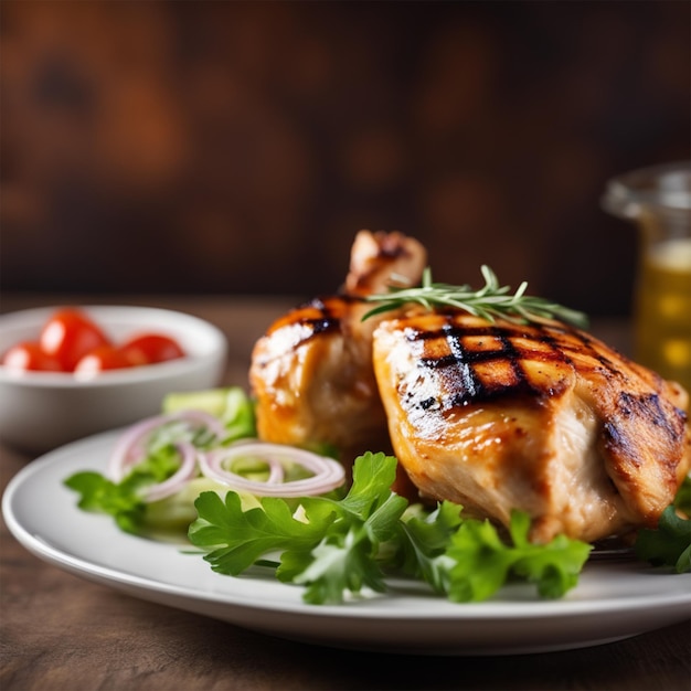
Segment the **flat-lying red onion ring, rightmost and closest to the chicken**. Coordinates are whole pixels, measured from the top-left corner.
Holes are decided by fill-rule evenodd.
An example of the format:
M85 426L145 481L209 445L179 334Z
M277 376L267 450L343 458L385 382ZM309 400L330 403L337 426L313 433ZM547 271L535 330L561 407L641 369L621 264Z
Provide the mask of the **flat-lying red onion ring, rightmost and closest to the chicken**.
M224 464L243 456L257 456L269 467L266 482L248 480L227 470ZM305 449L268 444L264 442L244 443L226 448L215 448L198 455L202 475L226 485L232 489L247 491L258 497L307 497L323 495L340 487L346 479L343 466L338 461L318 456ZM284 482L284 465L296 464L313 475L309 478Z

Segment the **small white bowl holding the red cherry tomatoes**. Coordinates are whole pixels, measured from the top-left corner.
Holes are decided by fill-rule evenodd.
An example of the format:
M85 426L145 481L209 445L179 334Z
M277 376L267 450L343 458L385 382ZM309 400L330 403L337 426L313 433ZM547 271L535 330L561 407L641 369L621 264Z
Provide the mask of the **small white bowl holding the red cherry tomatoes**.
M38 340L56 307L0 316L0 353ZM174 338L187 357L109 370L84 381L70 372L17 372L0 365L0 440L42 454L161 411L166 394L220 384L227 342L220 329L191 315L150 307L79 306L116 342L140 332Z

